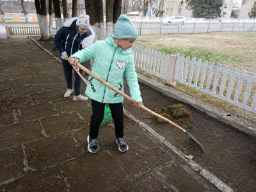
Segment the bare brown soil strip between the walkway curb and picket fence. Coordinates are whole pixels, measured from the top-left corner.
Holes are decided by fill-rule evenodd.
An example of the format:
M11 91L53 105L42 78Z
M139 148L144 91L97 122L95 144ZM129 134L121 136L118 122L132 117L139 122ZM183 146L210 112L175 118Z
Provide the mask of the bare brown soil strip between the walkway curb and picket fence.
M38 39L38 37L33 38ZM53 42L38 43L51 51L54 56L59 57L59 53L54 51ZM173 104L180 104L179 101L166 97L145 84L140 84L140 87L143 103L152 111L161 111ZM125 92L129 95L127 86ZM192 155L193 161L212 172L232 189L254 191L256 186L256 138L237 131L234 127L223 124L187 104L182 105L189 113L189 120L186 118L173 118L172 120L191 132L204 145L204 154L183 132L164 122L156 122L145 111L134 108L127 100L124 101L124 108L129 113L141 122L150 125L181 152ZM126 123L129 124L129 122ZM147 148L141 150L145 152Z

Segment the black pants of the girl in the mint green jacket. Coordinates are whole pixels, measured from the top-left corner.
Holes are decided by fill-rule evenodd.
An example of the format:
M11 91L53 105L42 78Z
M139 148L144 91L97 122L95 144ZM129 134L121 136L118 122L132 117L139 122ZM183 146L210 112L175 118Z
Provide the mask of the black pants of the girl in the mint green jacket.
M90 137L95 139L99 135L100 124L104 118L105 104L92 100L92 116L90 122ZM109 104L115 124L116 139L124 136L124 111L123 103Z

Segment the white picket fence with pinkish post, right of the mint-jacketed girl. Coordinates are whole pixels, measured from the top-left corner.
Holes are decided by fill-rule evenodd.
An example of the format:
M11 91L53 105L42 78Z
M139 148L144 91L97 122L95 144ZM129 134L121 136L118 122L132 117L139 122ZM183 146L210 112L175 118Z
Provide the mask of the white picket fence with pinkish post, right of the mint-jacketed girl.
M204 63L202 60L184 58L177 54L170 56L152 49L134 46L134 60L137 68L166 80L175 81L195 88L199 92L256 113L256 76L238 72L236 68L222 67L220 64Z

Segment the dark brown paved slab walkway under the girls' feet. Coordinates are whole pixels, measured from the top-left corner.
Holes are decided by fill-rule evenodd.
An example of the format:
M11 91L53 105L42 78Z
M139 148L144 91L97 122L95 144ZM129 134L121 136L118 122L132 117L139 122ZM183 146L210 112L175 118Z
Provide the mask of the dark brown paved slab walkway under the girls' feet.
M28 38L0 43L1 190L218 191L127 117L128 152L118 151L109 124L99 154L88 153L90 100L64 99L60 63Z

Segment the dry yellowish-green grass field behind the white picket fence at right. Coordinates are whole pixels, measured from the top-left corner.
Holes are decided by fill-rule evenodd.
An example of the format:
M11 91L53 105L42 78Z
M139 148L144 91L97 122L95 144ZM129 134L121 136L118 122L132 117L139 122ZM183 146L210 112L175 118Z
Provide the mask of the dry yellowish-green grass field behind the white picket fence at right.
M184 54L221 65L256 72L255 32L214 32L202 34L141 35L135 45L166 54Z

